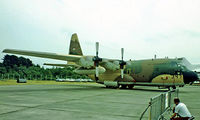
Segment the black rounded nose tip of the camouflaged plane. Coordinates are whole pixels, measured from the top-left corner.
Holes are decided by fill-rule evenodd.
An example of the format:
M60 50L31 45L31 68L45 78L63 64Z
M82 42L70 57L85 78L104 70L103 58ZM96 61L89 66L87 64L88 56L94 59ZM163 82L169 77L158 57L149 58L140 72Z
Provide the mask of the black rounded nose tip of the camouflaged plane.
M183 72L183 78L184 78L184 83L189 84L190 82L198 80L198 75L193 71L187 71Z

